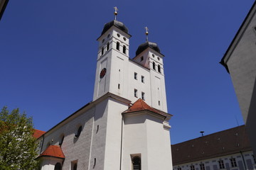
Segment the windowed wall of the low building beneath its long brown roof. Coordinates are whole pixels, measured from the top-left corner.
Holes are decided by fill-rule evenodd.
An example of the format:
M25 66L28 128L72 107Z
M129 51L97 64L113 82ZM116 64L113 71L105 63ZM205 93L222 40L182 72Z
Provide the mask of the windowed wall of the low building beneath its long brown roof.
M245 160L245 164L244 161L242 159L242 155L244 157ZM224 163L224 170L245 170L245 166L246 169L256 169L256 162L253 159L253 153L252 151L247 151L247 152L242 152L242 154L240 153L235 153L235 154L229 154L226 156L222 156L222 157L214 157L211 159L201 159L199 161L196 162L188 162L185 164L176 164L174 165L174 170L191 170L191 165L193 165L195 167L195 170L203 170L200 167L200 164L204 164L205 166L205 170L218 170L220 169L219 163L218 161L223 160ZM236 160L236 164L237 166L232 167L230 159L231 158L235 158ZM181 168L181 169L178 169Z

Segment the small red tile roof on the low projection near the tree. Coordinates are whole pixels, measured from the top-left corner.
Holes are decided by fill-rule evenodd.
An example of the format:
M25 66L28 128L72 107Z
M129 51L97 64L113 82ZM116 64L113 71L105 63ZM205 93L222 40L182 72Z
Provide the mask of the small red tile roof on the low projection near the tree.
M65 159L62 149L57 145L50 145L39 157L57 157Z

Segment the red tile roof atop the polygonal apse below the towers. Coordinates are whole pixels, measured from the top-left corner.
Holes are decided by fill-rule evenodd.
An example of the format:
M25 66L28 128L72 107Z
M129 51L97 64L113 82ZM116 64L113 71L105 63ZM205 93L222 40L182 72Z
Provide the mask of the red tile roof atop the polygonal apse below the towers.
M128 110L125 111L124 113L131 113L135 111L145 111L145 110L151 111L154 113L159 113L154 108L151 108L148 104L146 104L146 102L144 102L141 98L135 101L135 103L130 108L128 108Z

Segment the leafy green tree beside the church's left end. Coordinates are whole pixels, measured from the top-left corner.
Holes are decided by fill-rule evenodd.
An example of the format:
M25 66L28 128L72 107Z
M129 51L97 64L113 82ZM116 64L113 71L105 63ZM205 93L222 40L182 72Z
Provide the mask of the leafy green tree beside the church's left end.
M18 108L9 112L4 106L0 113L0 169L35 169L36 148L32 118Z

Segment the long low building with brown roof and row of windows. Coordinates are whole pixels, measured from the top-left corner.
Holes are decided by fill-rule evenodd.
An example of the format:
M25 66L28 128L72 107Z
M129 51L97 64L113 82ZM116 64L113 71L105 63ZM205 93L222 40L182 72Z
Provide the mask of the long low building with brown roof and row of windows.
M171 145L174 170L256 169L245 125Z

